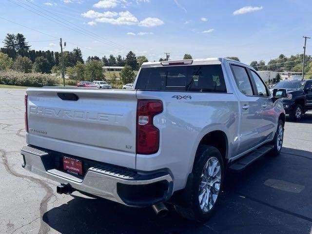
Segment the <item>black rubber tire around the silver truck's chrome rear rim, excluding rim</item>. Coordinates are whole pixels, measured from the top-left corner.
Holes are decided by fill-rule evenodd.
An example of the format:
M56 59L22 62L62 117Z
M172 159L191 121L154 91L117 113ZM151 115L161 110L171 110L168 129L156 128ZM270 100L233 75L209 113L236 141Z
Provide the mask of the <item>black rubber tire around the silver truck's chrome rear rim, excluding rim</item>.
M213 157L218 159L218 162L220 164L221 180L219 192L217 194L217 198L214 202L213 207L209 211L204 212L200 208L199 185L201 184L201 175L203 172L203 168L205 167L208 160ZM195 156L193 171L191 176L189 176L187 188L183 191L183 194L181 195L183 196L183 198L181 199L183 202L178 202L178 204L175 204L176 212L187 219L195 220L198 222L208 220L214 214L215 209L218 205L220 195L222 193L224 171L224 163L219 150L213 146L199 145ZM211 187L209 191L213 191L213 189L214 188Z

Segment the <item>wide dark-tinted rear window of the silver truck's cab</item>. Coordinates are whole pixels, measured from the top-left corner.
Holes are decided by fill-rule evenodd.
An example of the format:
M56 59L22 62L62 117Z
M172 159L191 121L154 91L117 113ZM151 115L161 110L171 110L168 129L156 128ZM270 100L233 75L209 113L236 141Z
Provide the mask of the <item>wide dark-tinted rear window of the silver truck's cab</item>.
M227 92L221 65L142 68L136 89Z

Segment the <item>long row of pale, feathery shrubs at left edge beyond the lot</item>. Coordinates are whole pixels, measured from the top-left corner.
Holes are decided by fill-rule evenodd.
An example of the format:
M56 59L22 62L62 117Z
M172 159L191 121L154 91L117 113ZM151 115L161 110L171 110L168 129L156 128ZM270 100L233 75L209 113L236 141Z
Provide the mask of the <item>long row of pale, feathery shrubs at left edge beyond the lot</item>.
M59 79L52 75L41 73L23 73L13 70L0 71L0 84L42 87L54 86L59 83Z

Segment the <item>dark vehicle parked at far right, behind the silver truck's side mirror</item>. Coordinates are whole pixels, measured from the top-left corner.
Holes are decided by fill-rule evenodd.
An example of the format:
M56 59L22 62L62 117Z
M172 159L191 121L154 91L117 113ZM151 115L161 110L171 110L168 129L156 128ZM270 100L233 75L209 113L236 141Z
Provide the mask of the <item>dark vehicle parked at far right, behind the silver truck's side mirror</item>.
M283 105L291 120L299 121L306 111L312 110L312 80L280 81L273 89L279 88L287 90Z

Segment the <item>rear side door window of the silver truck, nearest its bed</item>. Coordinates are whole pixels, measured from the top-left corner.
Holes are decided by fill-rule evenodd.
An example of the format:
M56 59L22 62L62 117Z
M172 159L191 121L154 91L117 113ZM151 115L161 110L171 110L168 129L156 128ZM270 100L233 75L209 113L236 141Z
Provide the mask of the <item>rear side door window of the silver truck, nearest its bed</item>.
M236 65L231 65L231 67L239 91L244 95L253 96L253 88L250 83L246 68Z

